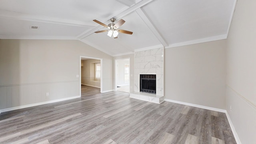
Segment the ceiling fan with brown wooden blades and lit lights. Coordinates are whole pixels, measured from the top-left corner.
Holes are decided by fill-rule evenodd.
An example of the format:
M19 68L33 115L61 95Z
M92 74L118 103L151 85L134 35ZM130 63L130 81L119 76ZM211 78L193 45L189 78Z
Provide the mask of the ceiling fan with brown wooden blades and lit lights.
M128 30L120 30L118 29L120 26L122 26L124 24L124 20L119 20L118 22L116 22L116 24L114 24L114 22L116 21L115 18L111 18L110 21L112 23L106 25L106 24L103 24L102 22L99 22L98 20L93 20L94 22L97 22L98 24L108 28L109 30L100 30L100 31L97 31L95 33L100 33L100 32L108 32L108 36L110 38L117 38L117 35L118 35L118 32L121 32L123 34L132 34L132 32L128 31Z

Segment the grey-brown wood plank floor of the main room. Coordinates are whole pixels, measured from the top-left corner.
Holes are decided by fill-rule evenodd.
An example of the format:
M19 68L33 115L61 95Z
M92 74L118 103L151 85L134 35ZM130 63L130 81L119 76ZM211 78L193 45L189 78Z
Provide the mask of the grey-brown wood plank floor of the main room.
M129 98L82 97L0 114L0 144L236 144L226 115Z

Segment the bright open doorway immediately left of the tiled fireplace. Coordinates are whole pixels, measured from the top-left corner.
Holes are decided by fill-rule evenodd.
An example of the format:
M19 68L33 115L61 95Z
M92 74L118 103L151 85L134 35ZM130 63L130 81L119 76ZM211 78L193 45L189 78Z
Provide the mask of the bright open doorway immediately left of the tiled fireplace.
M115 60L115 90L130 93L130 58Z

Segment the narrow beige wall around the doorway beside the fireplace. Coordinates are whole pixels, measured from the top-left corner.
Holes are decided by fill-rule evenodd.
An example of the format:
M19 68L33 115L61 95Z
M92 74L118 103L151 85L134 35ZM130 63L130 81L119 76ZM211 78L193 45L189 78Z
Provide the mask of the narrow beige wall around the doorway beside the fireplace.
M114 71L113 71L113 86L115 82L115 60L118 59L126 59L130 58L130 92L134 92L134 54L127 54L123 56L115 56L113 58L113 66L114 66Z

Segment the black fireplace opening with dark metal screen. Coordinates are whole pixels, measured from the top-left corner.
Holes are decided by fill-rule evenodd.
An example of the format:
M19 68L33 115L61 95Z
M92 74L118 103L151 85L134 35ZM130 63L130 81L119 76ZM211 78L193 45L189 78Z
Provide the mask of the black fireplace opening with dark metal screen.
M156 74L140 74L140 92L156 94Z

